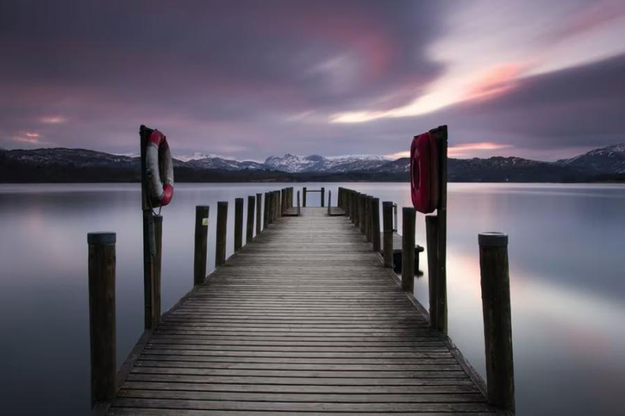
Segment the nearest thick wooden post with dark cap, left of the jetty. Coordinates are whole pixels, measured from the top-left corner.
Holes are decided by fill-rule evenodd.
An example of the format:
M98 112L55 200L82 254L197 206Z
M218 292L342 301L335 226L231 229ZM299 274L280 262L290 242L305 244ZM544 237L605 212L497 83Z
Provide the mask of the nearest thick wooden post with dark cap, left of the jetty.
M91 407L115 397L115 233L88 233Z

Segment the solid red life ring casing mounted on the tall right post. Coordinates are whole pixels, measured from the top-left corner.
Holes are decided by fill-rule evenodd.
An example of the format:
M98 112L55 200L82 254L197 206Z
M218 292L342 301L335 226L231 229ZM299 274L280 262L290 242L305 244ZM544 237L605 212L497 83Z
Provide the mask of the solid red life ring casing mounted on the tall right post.
M410 146L410 194L412 206L428 214L438 207L438 147L432 133L415 136Z

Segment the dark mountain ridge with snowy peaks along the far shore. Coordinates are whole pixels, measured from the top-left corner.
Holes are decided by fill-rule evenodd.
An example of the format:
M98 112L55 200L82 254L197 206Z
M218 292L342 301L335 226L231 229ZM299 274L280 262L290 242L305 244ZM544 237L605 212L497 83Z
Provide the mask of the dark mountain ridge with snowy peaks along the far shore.
M206 157L203 157L206 156ZM138 181L137 156L89 149L0 150L0 182ZM194 153L174 156L178 181L409 181L410 160L382 156L269 156L264 163ZM625 144L544 162L517 157L449 158L449 181L592 182L625 180Z

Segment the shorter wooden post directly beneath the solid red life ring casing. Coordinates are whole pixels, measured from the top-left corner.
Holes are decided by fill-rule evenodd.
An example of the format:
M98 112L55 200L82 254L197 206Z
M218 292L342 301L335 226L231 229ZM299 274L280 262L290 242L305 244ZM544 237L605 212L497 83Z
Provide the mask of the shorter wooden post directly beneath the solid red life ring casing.
M426 215L430 326L447 333L447 282L438 276L438 217Z

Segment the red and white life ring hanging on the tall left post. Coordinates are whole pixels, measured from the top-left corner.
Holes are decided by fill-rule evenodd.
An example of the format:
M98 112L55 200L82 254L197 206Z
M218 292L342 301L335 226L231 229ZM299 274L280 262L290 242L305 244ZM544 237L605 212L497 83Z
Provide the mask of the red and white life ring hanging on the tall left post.
M174 164L163 133L152 132L145 156L151 200L160 206L167 205L174 196Z

